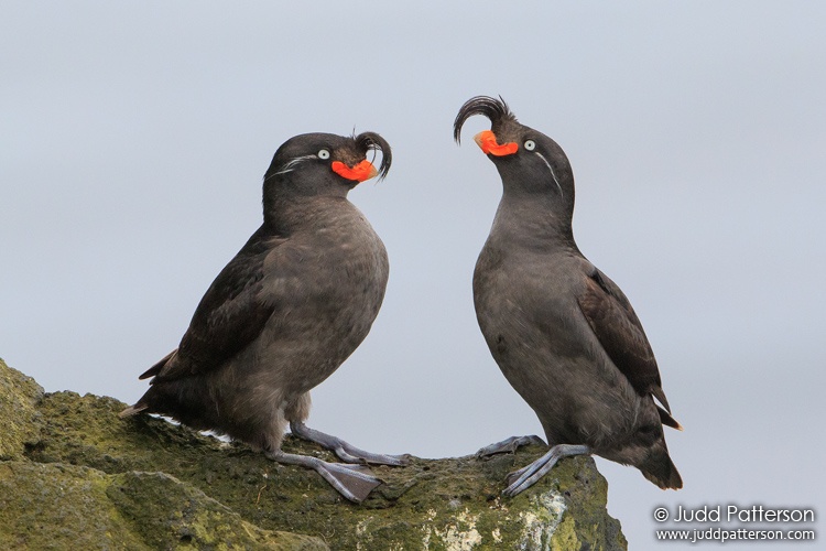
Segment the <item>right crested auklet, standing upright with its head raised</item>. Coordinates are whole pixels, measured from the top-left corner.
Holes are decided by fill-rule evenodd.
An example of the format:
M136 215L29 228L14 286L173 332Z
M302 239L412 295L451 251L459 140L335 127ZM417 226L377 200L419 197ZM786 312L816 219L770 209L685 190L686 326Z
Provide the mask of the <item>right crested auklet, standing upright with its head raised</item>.
M510 473L506 496L535 484L563 457L596 454L632 465L659 487L683 480L663 434L671 415L639 317L620 288L574 240L574 174L562 148L520 123L500 96L476 96L454 121L475 115L491 129L474 137L493 162L502 197L474 270L477 321L502 374L536 413L550 450ZM657 403L659 402L659 403ZM513 436L479 457L513 451Z

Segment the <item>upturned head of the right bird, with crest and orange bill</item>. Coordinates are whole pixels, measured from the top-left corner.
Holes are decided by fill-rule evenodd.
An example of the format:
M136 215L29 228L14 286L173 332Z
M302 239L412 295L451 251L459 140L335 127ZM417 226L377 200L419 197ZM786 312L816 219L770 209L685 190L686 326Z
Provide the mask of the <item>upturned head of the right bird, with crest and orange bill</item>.
M453 136L460 143L461 127L474 115L490 119L490 130L474 137L493 161L506 193L555 194L557 204L574 208L574 174L565 152L551 138L521 125L508 104L488 96L468 99L459 109Z

